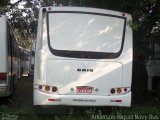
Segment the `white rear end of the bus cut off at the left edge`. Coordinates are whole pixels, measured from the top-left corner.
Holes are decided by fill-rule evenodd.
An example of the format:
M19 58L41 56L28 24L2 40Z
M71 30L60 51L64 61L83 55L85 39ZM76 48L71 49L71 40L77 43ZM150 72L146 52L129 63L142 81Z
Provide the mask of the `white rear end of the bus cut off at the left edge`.
M7 53L7 19L4 15L0 15L0 97L8 96L8 53Z

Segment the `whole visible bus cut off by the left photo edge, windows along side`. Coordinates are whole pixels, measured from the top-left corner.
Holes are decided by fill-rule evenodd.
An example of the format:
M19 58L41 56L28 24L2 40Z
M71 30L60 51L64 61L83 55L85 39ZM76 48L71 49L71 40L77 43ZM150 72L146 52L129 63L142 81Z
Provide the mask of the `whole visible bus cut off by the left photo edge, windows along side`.
M14 93L19 75L18 44L5 15L0 15L0 97Z

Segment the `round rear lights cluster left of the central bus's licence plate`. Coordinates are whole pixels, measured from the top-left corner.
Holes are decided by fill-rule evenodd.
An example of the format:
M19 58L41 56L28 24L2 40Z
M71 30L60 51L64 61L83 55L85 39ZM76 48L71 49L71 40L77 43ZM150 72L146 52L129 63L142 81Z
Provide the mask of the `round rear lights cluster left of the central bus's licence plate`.
M38 85L38 90L44 92L57 92L58 88L56 86Z

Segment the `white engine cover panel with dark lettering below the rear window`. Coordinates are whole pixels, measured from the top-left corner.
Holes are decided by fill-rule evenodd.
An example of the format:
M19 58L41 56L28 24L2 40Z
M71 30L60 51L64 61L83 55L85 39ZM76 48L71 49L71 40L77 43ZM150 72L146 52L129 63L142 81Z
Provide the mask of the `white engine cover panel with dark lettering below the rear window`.
M111 95L111 88L121 87L122 64L106 61L48 60L46 73L46 84L59 88L61 95ZM90 93L77 93L77 87L83 86L92 87L93 90ZM72 89L74 90L71 91Z

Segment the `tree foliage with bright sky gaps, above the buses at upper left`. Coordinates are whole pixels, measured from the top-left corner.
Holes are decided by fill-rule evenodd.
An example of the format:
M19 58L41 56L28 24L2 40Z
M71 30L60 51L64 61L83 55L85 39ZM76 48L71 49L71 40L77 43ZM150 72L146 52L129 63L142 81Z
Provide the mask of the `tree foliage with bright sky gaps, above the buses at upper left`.
M6 13L16 35L18 44L30 48L36 38L37 19L40 3L38 0L0 1L0 10ZM19 8L19 5L21 8Z

